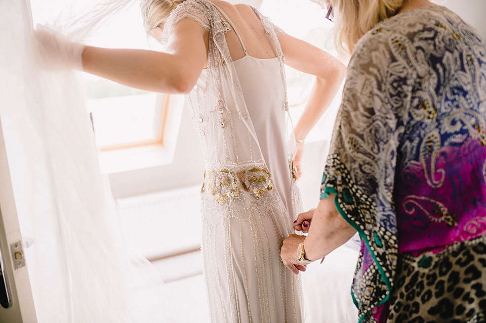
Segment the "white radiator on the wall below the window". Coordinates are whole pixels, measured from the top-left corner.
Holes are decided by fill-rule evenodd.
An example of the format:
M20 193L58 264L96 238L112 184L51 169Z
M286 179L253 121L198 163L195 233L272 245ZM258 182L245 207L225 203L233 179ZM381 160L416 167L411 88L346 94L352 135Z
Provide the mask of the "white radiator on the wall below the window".
M200 246L200 186L116 202L126 243L145 257L164 257Z

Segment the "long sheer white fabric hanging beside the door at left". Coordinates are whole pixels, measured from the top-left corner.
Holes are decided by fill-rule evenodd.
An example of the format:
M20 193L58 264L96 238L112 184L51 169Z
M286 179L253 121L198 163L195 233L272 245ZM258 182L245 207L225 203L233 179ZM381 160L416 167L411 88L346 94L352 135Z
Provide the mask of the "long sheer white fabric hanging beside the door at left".
M0 118L38 321L164 322L163 284L123 245L72 71L38 67L28 0L0 1Z

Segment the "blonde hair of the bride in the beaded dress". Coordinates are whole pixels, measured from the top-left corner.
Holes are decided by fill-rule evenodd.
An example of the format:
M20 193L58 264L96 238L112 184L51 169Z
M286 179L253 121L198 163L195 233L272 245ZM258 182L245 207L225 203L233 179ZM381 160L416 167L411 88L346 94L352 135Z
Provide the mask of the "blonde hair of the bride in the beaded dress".
M186 0L140 0L142 21L145 32L166 22L171 12Z

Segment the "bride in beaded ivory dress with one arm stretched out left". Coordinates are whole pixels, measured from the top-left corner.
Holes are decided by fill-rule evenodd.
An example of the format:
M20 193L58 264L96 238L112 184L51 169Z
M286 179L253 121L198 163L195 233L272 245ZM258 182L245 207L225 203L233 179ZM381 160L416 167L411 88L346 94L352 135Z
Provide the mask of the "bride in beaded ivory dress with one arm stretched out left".
M300 283L279 249L301 211L295 180L304 139L344 66L247 5L141 0L141 10L147 33L167 42L165 52L85 46L41 26L45 64L187 95L206 161L202 250L211 321L301 322ZM284 61L316 76L292 144Z

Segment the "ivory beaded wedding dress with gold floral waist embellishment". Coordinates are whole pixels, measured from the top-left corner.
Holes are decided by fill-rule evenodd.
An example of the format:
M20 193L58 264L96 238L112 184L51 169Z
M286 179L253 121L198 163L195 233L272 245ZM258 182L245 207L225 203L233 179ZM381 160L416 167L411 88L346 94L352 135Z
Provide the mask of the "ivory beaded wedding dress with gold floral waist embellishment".
M186 99L206 159L202 249L211 321L301 322L298 276L280 261L282 241L300 211L276 36L282 31L254 11L273 39L275 58L248 55L231 20L206 0L179 5L164 37L184 18L210 35L208 68ZM245 52L234 62L225 40L231 27Z

